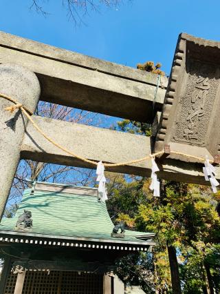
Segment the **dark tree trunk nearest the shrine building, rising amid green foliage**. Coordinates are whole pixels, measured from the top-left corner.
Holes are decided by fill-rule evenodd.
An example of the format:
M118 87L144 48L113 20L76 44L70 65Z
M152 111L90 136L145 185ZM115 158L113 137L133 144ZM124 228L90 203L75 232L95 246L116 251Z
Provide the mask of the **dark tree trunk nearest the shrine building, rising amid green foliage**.
M179 278L179 266L177 262L176 249L174 246L167 246L170 262L171 282L173 294L181 294L181 284Z

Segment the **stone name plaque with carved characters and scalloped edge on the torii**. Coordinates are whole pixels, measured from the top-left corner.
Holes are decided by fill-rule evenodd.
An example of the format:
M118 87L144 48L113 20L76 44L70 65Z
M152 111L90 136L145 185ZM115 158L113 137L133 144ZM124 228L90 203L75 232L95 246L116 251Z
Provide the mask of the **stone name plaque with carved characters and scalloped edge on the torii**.
M179 35L156 151L169 144L171 151L197 157L213 159L220 153L219 80L220 43ZM198 161L183 155L170 158Z

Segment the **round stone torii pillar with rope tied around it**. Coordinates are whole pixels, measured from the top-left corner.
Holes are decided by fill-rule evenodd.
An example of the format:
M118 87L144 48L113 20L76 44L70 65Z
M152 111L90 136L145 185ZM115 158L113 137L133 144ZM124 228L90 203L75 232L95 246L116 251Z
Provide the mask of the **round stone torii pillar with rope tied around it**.
M23 66L0 65L0 92L17 99L32 112L39 101L41 87L33 72ZM0 97L0 219L20 160L20 146L27 124L21 110L5 111L12 102Z

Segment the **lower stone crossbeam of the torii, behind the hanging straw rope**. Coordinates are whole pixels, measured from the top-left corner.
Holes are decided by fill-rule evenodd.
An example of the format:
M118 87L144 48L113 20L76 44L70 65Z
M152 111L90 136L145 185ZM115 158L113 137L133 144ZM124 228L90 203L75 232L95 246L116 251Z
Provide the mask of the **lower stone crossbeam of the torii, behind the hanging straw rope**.
M33 117L34 121L45 130L55 141L74 153L95 161L119 163L146 157L151 153L151 139L140 135L122 133L81 124L72 124L67 121L57 121L44 117ZM65 130L65 132L61 132ZM96 168L58 149L40 135L28 124L27 132L21 144L21 157L36 161ZM202 166L166 159L158 164L157 173L162 179L195 184L209 184L204 179ZM131 175L151 175L151 161L142 161L126 166L115 166L106 170ZM220 179L220 168L217 168L217 179Z

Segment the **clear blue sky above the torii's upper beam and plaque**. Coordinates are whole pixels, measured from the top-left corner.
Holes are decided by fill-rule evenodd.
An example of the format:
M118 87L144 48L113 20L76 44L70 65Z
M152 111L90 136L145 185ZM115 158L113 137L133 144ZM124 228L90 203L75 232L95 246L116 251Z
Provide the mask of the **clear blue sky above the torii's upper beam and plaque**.
M0 30L135 67L162 63L167 74L180 32L220 41L220 3L204 0L123 0L118 8L89 11L86 25L68 21L62 0L39 0L50 14L30 11L32 0L1 0Z

